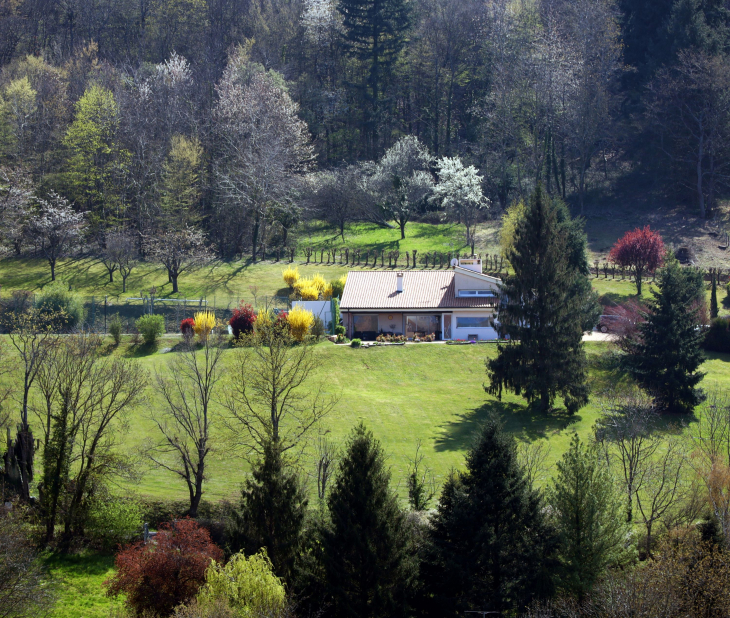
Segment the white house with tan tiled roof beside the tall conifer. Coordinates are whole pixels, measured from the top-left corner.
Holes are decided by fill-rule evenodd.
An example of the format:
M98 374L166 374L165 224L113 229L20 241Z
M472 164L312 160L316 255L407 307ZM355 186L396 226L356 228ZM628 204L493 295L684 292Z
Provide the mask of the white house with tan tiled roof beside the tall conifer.
M482 273L478 258L460 259L450 270L350 271L342 323L348 337L365 340L384 333L496 339L500 284Z

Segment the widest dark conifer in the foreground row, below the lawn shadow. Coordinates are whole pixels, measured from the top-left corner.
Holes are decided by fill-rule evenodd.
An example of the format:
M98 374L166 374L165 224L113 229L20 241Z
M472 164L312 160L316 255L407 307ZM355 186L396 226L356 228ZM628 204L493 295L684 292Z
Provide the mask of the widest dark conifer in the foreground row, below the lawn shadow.
M483 427L466 471L447 480L431 523L422 565L429 615L507 615L552 592L556 536L497 418Z

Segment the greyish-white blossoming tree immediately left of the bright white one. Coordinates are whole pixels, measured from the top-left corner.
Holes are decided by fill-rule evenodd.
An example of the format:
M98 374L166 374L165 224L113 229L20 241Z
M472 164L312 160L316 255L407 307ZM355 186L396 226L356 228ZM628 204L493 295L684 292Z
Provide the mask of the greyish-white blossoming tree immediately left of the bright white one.
M409 135L389 148L370 178L370 190L381 208L400 227L401 239L406 237L406 224L419 203L433 188L428 171L431 155L418 138Z

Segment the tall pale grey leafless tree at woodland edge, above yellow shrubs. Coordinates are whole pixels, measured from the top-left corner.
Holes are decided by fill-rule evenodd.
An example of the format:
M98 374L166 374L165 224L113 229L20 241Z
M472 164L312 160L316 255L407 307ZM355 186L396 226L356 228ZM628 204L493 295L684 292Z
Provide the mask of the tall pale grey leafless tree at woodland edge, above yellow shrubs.
M258 256L268 209L294 206L299 175L309 169L312 145L298 105L275 74L250 62L240 48L217 88L216 130L221 157L218 191L226 204L223 221L238 229L241 247L250 231L251 258ZM240 222L248 222L241 228Z

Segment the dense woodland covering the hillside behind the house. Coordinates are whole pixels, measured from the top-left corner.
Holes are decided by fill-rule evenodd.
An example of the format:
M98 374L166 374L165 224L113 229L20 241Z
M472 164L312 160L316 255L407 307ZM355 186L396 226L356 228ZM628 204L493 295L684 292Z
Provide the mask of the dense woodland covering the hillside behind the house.
M305 217L469 224L537 183L711 216L729 25L720 0L6 0L5 245L47 244L59 199L102 248L254 260Z

